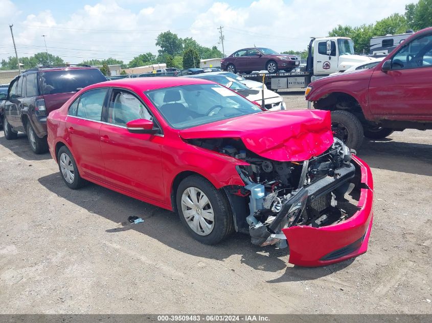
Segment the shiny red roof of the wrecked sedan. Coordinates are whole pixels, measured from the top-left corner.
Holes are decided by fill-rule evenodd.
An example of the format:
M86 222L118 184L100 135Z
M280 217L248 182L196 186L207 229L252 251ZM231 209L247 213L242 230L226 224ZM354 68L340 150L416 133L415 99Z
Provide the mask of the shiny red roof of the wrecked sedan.
M176 78L176 77L154 77L154 78L133 78L133 79L120 79L101 82L88 86L88 88L99 87L122 87L129 88L139 93L143 91L163 89L173 86L193 85L193 84L214 84L214 82L194 79L194 78Z

